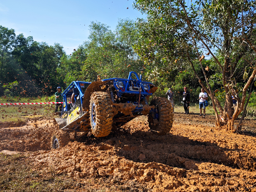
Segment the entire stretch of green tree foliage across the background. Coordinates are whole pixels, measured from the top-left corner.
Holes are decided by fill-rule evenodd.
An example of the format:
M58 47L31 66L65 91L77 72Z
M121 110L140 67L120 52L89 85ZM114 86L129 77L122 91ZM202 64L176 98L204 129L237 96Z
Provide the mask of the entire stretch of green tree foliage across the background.
M191 102L197 102L201 88L197 77L205 84L202 68L207 69L210 87L221 90L216 95L222 105L226 99L223 95L227 94L223 77L226 84L241 92L256 60L245 41L256 42L254 1L135 3L136 9L147 14L146 20L134 23L119 19L115 31L91 22L89 40L70 55L58 43L49 46L0 26L0 95L52 95L57 86L66 88L74 80L91 82L97 75L102 79L127 78L130 71L136 71L143 80L159 87L155 94L165 97L165 89L172 87L174 100L180 101L183 87L187 86L192 90ZM200 56L212 51L211 58L202 60L202 68L197 49Z

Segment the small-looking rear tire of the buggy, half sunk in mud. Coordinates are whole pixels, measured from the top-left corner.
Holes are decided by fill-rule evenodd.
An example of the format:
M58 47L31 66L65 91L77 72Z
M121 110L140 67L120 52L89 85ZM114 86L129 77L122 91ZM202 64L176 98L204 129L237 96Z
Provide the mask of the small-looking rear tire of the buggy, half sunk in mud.
M64 147L70 142L69 132L57 130L53 133L51 138L51 148L57 149Z

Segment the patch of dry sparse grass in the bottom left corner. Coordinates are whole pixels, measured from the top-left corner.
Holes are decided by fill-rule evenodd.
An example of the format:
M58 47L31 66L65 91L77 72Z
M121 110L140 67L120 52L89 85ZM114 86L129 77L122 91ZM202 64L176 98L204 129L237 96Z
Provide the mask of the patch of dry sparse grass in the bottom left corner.
M73 187L74 180L57 176L54 172L43 175L33 169L32 162L23 154L0 153L0 189L9 191L64 191Z

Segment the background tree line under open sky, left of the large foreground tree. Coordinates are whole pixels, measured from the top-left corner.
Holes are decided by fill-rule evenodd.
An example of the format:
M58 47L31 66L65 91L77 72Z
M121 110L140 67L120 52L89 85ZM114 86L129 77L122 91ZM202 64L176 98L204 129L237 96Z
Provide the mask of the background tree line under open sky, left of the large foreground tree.
M91 82L97 75L127 78L129 71L143 73L143 62L132 48L139 35L134 21L120 19L115 31L94 21L89 28L89 40L66 55L58 43L49 46L1 27L0 94L13 85L15 94L23 96L52 94L57 86L65 88L74 80Z

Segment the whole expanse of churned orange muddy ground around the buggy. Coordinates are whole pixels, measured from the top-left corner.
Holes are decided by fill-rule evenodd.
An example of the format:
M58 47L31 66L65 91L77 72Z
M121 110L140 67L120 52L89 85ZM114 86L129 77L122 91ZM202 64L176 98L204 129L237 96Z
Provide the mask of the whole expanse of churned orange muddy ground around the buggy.
M125 181L143 186L134 191L256 191L255 125L247 121L242 132L231 133L216 128L214 116L175 113L170 133L159 136L141 116L107 137L50 150L53 119L30 119L19 127L1 125L0 153L26 153L39 173L74 178L81 184L75 191L89 191L83 188L88 178L108 178L91 183L103 191Z

